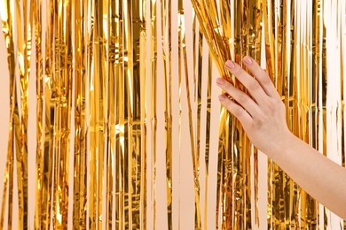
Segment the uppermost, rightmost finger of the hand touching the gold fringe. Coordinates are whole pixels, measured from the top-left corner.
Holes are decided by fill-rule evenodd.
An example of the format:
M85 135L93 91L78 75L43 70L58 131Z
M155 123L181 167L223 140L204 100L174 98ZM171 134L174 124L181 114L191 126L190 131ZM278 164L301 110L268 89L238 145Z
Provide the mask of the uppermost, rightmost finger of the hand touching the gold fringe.
M254 74L256 80L258 80L264 92L268 96L279 98L279 93L272 84L271 78L269 77L268 73L266 73L254 59L248 56L243 59L243 62L248 67L248 70Z

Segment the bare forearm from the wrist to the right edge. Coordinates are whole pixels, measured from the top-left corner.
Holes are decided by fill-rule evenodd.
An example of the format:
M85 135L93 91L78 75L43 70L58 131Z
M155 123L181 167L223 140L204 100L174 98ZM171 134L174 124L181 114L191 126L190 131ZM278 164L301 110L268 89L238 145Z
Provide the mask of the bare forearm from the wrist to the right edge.
M312 197L346 219L346 169L293 134L283 142L268 156Z

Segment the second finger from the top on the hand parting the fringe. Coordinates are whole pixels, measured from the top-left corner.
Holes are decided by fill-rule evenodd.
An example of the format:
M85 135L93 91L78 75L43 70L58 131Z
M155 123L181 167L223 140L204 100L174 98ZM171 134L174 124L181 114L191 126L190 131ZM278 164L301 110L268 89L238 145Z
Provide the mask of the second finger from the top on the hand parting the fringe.
M267 94L264 92L259 82L243 70L240 65L228 60L226 62L226 67L238 80L240 80L241 84L248 88L248 92L255 98L256 103L261 103L267 99Z

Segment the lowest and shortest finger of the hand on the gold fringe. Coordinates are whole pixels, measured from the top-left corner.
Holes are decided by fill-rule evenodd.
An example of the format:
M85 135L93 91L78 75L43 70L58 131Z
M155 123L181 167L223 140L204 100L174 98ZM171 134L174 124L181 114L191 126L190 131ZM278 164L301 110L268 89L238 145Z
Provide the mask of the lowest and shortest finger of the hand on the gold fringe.
M247 111L244 110L239 104L233 102L230 98L224 95L220 95L219 97L220 103L224 105L228 111L230 111L237 119L240 120L240 123L243 126L249 125L253 122L253 119L248 114Z

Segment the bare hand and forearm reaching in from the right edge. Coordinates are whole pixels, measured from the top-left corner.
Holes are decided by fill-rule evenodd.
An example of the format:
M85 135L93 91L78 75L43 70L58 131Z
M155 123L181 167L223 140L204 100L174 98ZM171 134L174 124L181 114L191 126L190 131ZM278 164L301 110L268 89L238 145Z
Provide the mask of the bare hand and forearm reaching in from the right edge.
M226 62L227 69L248 88L248 96L222 78L217 85L225 93L219 100L248 134L250 141L277 163L295 182L330 211L346 219L346 168L324 157L316 149L292 134L286 123L285 105L268 74L249 57L240 65Z

